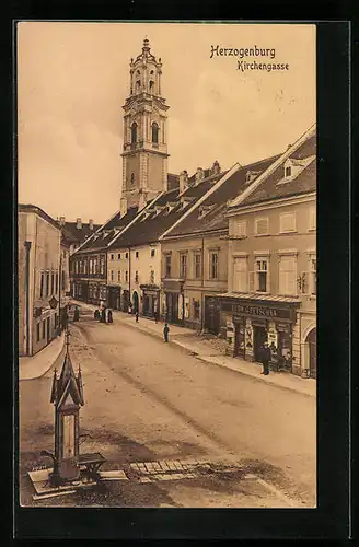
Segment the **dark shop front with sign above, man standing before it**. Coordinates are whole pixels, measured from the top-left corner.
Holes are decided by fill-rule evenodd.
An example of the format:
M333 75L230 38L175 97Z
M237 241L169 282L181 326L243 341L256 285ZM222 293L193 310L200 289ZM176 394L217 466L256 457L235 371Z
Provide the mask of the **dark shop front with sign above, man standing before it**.
M298 300L224 295L220 298L220 305L233 357L258 362L260 348L267 341L273 363L278 369L292 372L293 327Z

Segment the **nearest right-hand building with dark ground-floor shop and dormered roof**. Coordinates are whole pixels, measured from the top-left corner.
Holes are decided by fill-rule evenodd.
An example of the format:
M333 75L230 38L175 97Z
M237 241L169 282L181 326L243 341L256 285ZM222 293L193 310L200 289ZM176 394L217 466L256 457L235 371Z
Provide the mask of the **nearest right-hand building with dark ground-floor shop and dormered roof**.
M229 208L229 291L219 296L230 352L316 377L316 161L311 128L260 185Z

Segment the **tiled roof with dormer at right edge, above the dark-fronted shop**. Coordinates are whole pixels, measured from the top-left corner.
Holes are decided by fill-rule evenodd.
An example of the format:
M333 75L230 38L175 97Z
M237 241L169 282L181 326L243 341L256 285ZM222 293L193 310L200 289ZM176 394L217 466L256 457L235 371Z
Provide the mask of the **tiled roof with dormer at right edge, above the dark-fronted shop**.
M305 140L301 147L290 156L296 160L313 158L316 154L316 138L315 136ZM278 184L285 177L285 162L274 171L262 184L250 194L246 199L239 206L246 206L271 199L279 199L290 196L315 191L316 189L316 161L314 160L306 165L298 176L287 183Z

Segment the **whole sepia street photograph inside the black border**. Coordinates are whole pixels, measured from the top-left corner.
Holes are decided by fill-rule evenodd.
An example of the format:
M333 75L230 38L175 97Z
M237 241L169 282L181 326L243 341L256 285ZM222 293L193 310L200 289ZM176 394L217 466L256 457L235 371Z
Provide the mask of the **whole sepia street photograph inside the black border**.
M316 508L315 24L15 62L21 507Z

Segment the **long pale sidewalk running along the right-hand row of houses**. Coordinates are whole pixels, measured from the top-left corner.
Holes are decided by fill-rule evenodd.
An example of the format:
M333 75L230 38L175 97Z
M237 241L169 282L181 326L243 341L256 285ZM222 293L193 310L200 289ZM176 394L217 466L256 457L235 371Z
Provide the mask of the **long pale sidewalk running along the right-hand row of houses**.
M94 305L85 304L80 301L73 301L73 303L80 309L91 310L92 312L96 309ZM113 316L114 321L120 321L121 323L137 328L138 330L142 330L143 333L148 333L163 339L163 323L157 324L153 319L144 317L139 317L138 323L136 323L134 315L129 315L117 310L113 310ZM252 376L259 382L276 385L279 388L290 389L310 397L316 397L316 381L313 379L302 379L288 372L270 372L268 376L264 376L260 374L262 365L259 363L251 363L242 359L228 357L219 349L216 349L211 341L201 339L201 337L194 330L171 324L169 326L170 342L186 349L201 361L224 366L225 369L240 374Z

